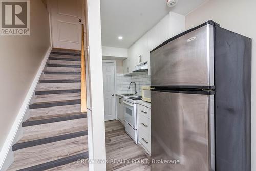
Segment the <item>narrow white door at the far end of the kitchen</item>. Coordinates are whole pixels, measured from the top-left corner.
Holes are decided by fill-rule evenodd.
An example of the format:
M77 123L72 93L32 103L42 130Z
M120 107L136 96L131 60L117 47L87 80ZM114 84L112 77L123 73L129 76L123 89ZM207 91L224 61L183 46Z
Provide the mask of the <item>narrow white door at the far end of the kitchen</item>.
M105 121L116 119L114 63L103 62Z

